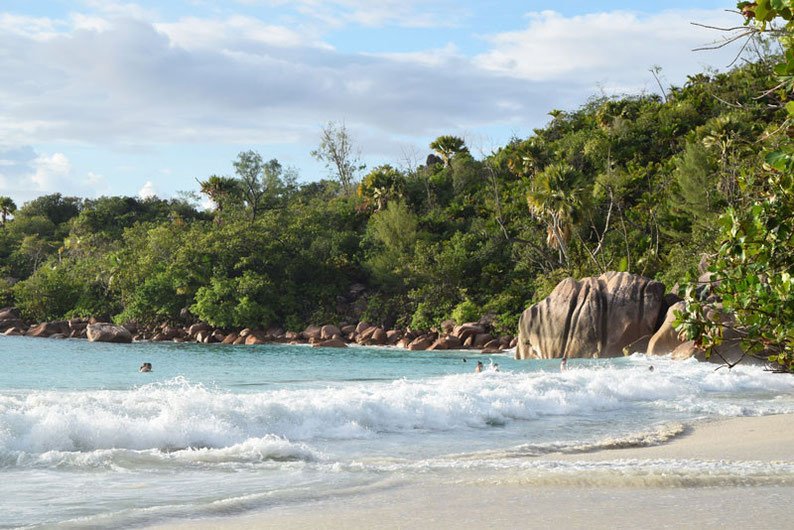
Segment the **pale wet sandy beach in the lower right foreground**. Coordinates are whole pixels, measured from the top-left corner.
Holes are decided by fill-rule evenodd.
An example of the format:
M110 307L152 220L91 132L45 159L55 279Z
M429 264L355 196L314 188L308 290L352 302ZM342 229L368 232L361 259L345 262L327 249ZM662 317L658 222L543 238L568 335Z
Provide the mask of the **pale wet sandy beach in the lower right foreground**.
M775 470L794 464L792 447L794 415L735 418L688 426L659 446L529 458L574 466L542 480L514 471L396 478L363 495L158 528L786 528L794 473ZM695 471L665 471L680 461Z

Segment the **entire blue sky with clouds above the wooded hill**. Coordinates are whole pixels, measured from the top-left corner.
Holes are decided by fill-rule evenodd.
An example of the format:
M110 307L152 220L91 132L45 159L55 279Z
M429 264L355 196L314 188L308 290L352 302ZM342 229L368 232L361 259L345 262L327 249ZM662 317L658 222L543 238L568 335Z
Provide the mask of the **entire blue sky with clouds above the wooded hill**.
M344 123L368 167L423 163L443 134L475 156L553 109L659 92L737 47L731 1L3 0L0 195L171 198L253 149L310 153Z

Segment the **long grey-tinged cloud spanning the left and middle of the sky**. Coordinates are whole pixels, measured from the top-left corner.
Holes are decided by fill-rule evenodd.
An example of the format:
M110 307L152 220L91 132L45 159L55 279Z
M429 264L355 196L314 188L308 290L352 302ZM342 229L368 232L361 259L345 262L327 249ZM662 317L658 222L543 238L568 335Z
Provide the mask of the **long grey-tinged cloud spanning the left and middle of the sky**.
M230 30L217 31L223 39ZM185 46L194 42L180 35ZM0 127L0 142L314 144L317 124L328 120L422 134L512 119L495 99L529 103L523 81L506 82L463 57L447 64L452 47L376 57L262 38L224 44L186 48L130 19L36 46L0 35L0 47L16 53L0 56L0 71L17 81L0 84L0 125L9 126Z

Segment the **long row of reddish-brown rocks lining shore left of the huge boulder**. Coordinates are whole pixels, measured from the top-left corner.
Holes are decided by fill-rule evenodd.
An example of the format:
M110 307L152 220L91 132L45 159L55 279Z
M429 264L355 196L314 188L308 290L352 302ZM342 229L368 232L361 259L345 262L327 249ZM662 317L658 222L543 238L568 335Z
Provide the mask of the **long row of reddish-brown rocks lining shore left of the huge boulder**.
M339 326L308 326L301 332L284 331L279 327L228 331L199 322L191 326L163 325L139 329L134 323L117 326L93 319L72 319L42 322L28 326L15 308L0 310L0 332L6 335L31 337L80 338L96 342L172 341L222 344L311 344L317 347L344 348L356 343L364 346L399 346L408 350L477 349L482 353L500 353L516 345L517 338L495 336L490 321L456 325L444 321L440 329L428 332L412 329L386 330L368 322L341 323Z

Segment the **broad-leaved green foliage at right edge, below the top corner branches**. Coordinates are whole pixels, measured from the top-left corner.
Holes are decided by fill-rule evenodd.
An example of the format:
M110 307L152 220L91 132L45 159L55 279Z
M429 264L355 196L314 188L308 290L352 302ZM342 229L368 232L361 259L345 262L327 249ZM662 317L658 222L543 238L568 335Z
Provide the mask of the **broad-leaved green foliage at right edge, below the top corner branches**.
M723 340L724 328L742 338L750 354L794 368L794 146L771 152L773 171L740 180L752 193L746 209L729 209L720 218L721 244L709 270L718 283L711 294L722 310L733 314L728 324L710 318L709 307L687 288L687 310L678 329L711 350Z

